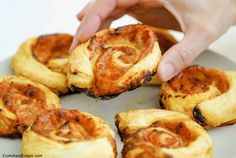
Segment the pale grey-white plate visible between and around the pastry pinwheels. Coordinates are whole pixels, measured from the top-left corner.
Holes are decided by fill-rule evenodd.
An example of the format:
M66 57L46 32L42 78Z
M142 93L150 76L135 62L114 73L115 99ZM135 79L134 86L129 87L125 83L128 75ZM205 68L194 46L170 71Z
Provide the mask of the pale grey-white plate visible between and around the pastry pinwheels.
M202 53L195 64L223 70L236 69L236 63L211 51ZM12 74L10 59L0 62L0 75L4 74ZM73 94L62 97L62 105L66 109L78 109L104 118L117 133L114 116L118 112L130 109L156 108L158 93L158 87L141 87L105 101L96 100L84 94ZM236 157L236 125L214 128L208 130L208 133L214 144L214 158ZM118 134L116 134L116 140L120 156L122 143ZM2 157L3 154L20 154L20 148L20 139L0 138L0 155Z

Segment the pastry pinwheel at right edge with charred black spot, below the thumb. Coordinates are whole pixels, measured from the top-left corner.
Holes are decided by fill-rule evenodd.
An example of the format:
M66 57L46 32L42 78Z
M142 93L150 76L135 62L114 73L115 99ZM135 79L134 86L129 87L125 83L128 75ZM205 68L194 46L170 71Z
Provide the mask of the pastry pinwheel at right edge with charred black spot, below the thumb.
M190 66L162 85L160 106L205 128L235 123L236 72Z

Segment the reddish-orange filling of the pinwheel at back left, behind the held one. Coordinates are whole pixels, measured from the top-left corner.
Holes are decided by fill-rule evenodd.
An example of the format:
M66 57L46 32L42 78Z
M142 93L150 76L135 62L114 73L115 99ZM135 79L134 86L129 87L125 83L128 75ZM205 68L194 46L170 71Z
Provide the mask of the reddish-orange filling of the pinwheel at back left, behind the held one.
M51 59L67 58L73 37L67 34L50 34L37 38L32 46L33 56L43 64Z

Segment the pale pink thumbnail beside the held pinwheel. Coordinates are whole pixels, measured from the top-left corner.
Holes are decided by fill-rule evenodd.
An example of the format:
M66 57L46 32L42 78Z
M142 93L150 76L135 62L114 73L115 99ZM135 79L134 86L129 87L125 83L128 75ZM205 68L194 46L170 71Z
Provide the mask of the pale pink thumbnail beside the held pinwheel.
M161 76L164 81L167 81L175 74L175 67L171 62L166 62L161 67Z

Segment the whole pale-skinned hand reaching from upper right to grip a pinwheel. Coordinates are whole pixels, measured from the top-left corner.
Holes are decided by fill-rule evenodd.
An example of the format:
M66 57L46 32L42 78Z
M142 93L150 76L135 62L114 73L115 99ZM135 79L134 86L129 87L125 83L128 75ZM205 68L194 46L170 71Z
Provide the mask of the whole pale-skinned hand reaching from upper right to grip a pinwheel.
M81 23L70 51L125 14L147 25L184 33L184 39L163 55L158 66L159 78L166 81L236 24L236 0L92 1L77 15Z

